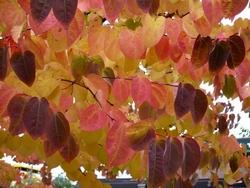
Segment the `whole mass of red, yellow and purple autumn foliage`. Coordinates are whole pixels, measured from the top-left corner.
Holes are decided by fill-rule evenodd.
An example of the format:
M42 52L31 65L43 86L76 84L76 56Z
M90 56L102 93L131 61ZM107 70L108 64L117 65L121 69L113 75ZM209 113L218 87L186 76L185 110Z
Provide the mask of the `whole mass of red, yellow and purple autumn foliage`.
M191 187L198 169L215 185L218 170L247 183L235 115L214 102L240 97L249 109L249 20L220 24L247 4L0 1L1 151L36 155L46 184L57 165L83 187L108 186L100 167L151 187Z

